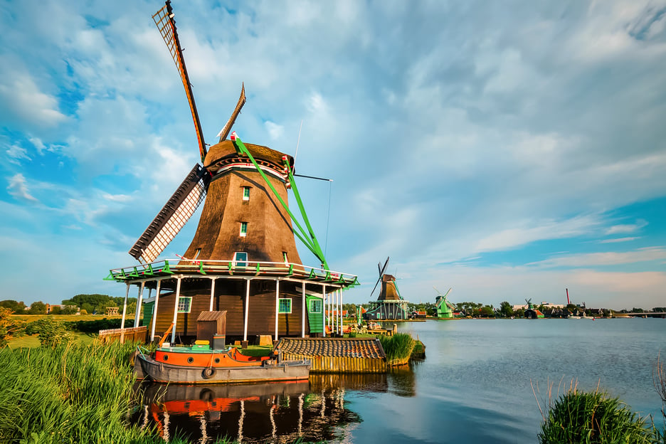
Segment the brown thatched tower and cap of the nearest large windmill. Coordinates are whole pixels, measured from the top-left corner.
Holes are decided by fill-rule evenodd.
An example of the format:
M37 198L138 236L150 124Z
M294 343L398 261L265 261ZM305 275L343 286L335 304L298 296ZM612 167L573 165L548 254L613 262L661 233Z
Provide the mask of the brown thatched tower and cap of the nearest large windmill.
M245 144L262 167L270 184L287 203L287 186L282 167L285 154ZM293 159L287 156L290 164ZM213 145L204 164L214 176L208 186L199 226L186 250L186 258L232 260L234 253L248 253L248 261L300 264L289 214L282 207L247 157L239 157L231 141ZM249 191L248 191L249 190ZM249 196L244 196L248 193ZM247 233L241 235L241 224Z

